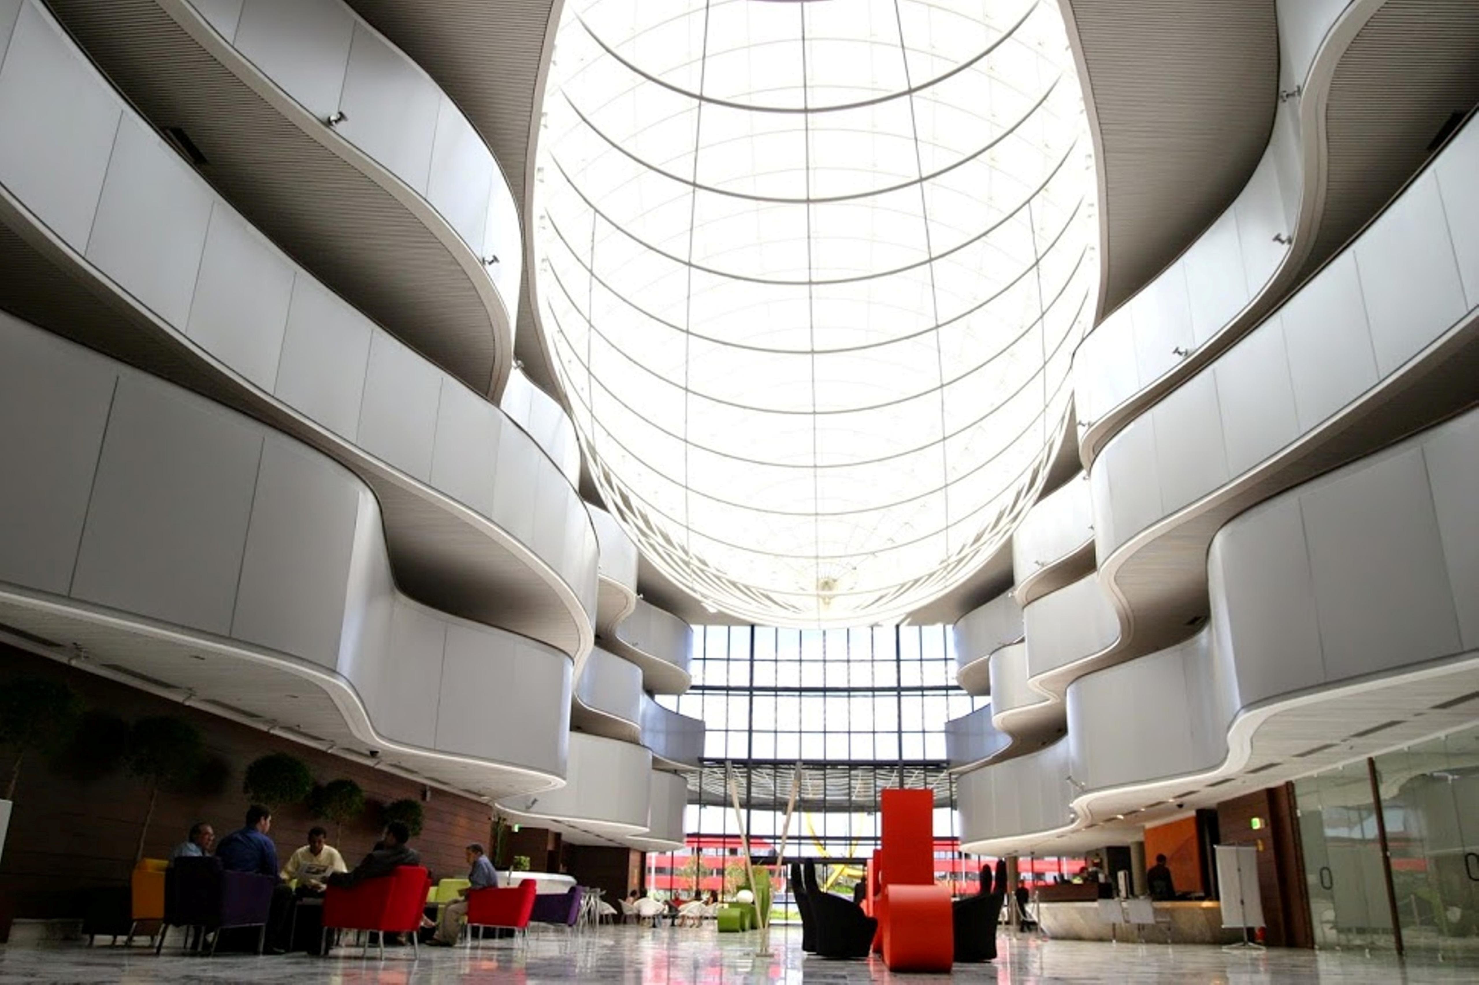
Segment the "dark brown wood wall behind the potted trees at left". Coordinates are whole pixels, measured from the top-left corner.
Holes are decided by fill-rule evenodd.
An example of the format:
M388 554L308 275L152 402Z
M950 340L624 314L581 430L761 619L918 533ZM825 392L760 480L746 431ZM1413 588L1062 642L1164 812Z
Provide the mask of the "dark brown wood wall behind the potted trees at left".
M188 719L201 729L207 753L225 763L226 776L219 793L160 794L145 856L167 856L173 844L185 840L197 819L209 821L217 839L240 828L248 806L247 796L241 793L243 771L266 753L297 756L309 765L318 782L340 776L353 779L371 802L422 797L422 785L414 781L0 643L0 686L18 673L67 680L87 707L105 708L130 722L151 714ZM12 762L10 750L0 750L0 769L6 778ZM10 917L78 917L84 913L89 890L127 883L148 803L148 791L139 781L120 772L83 784L58 775L43 757L28 756L15 802L10 834L0 859L0 939L4 939ZM432 790L430 800L423 806L426 822L422 834L411 839L411 846L430 867L433 879L464 876L463 849L472 842L491 842L491 808L441 790ZM306 831L314 824L319 822L302 806L275 809L272 839L284 861L305 843ZM331 824L324 827L333 831ZM379 834L379 818L371 806L361 822L345 825L336 847L353 865Z

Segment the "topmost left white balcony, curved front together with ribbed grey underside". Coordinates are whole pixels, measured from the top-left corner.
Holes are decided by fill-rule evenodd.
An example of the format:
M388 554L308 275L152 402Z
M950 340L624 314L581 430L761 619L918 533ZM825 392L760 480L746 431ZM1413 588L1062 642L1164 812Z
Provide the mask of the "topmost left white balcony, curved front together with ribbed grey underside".
M340 0L52 9L253 225L417 352L501 393L522 271L515 198L399 49Z

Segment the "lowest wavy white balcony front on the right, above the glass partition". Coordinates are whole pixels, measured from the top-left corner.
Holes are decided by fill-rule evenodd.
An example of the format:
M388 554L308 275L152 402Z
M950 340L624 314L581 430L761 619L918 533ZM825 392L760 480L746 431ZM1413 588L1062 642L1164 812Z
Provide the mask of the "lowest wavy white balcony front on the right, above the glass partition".
M1056 803L1068 785L1075 803L1092 809L1097 791L1233 772L1247 762L1253 729L1281 708L1337 689L1380 691L1395 677L1472 660L1479 651L1475 488L1479 411L1225 525L1207 559L1207 627L1075 680L1068 737L1052 751L963 775L963 842L1041 833L1066 816L1023 825L985 791L1016 788L1028 802ZM1040 769L1015 766L1025 760Z

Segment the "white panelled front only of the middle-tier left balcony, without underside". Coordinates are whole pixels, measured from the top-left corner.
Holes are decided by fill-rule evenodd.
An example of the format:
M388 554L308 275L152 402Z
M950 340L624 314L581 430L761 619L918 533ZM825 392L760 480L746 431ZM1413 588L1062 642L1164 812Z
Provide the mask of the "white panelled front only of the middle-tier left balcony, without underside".
M251 229L34 3L0 64L0 135L3 191L83 269L127 291L222 382L491 521L589 623L596 537L561 466Z

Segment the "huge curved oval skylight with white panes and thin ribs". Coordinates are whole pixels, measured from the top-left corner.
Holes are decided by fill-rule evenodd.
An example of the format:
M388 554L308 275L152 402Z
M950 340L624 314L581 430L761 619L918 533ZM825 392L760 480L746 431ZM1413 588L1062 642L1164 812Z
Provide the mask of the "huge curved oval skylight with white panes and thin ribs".
M1050 0L568 0L537 294L608 507L760 623L950 590L1056 450L1093 198Z

